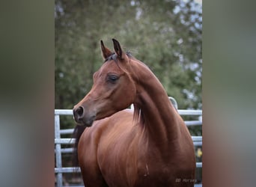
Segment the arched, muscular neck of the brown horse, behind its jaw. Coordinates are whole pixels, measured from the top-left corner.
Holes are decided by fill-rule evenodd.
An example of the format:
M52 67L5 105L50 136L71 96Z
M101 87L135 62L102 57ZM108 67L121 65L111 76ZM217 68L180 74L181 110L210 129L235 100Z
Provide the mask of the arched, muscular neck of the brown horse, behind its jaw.
M153 73L140 64L135 76L137 96L135 108L140 108L144 129L155 144L167 148L179 135L180 115L171 105L165 89ZM137 67L138 68L138 67ZM142 123L142 122L141 122Z

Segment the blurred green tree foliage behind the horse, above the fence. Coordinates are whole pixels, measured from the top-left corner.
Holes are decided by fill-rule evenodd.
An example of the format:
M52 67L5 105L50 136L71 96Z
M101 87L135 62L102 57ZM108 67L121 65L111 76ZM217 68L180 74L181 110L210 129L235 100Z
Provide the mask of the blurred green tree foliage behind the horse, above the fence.
M73 108L90 91L103 63L100 40L112 49L112 38L153 70L179 108L201 108L200 6L55 0L55 108Z

